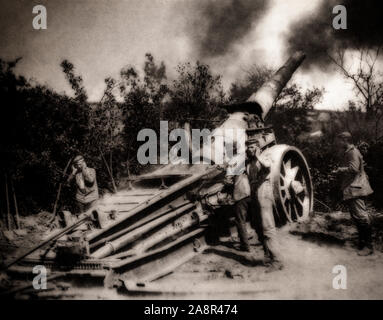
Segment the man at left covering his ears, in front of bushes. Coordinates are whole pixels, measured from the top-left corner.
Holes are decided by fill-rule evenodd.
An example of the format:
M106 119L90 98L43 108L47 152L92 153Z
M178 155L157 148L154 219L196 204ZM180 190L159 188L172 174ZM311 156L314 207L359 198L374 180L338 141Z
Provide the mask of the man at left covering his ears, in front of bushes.
M81 214L91 208L98 200L98 186L96 170L86 165L84 157L79 155L74 158L72 174L69 181L76 180L77 213Z

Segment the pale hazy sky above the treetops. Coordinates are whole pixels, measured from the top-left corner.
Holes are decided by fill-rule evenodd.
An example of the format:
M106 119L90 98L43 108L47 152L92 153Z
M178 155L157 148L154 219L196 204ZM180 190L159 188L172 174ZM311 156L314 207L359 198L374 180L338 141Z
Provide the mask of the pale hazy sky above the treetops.
M228 89L254 64L281 66L289 26L321 1L243 0L236 7L231 0L0 0L0 57L22 57L17 73L72 94L60 68L68 59L91 101L100 99L106 77L118 77L127 65L142 66L147 52L164 61L169 78L179 63L208 63ZM32 27L37 4L47 8L46 30ZM294 81L325 89L318 109L342 109L353 98L335 67L301 68Z

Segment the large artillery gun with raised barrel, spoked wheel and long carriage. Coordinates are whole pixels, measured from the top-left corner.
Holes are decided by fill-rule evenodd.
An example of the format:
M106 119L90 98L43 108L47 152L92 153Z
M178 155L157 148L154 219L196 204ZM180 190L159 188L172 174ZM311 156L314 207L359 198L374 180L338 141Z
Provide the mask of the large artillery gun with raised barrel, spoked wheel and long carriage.
M304 58L302 52L295 53L247 101L228 106L229 116L219 126L235 130L250 126L247 133L258 140L261 157L271 159L278 225L304 220L313 209L304 156L295 147L277 144L272 128L264 126L275 99ZM213 142L210 147L217 145ZM129 188L103 197L75 222L69 212L61 212L63 229L9 263L8 272L33 277L33 266L44 265L52 275L87 276L132 291L144 288L201 253L214 227L212 217L232 207L223 183L226 172L212 162L168 164L139 175ZM93 228L79 230L89 222Z

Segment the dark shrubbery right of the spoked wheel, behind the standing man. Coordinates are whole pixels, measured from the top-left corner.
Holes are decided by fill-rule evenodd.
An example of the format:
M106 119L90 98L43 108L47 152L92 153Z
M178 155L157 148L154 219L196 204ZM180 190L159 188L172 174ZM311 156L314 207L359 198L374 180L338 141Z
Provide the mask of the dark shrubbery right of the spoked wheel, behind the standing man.
M342 157L340 150L334 145L336 135L342 131L352 134L354 144L361 151L366 172L374 189L370 199L375 206L382 207L383 200L380 195L383 192L383 141L375 134L376 118L356 110L328 112L330 118L322 123L321 135L311 137L307 130L309 116L306 114L299 117L302 113L303 110L281 113L277 111L273 115L274 126L277 138L280 137L279 143L295 145L304 153L311 169L315 198L320 201L316 202L316 208L326 210L322 203L333 210L342 208L338 177L331 174ZM297 127L300 129L297 130Z

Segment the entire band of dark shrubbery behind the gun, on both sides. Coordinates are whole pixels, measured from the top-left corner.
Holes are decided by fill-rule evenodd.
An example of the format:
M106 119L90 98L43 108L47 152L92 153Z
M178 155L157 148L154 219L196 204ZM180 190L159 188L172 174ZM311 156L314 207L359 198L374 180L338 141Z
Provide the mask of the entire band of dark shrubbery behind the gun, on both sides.
M237 81L225 95L220 76L209 66L197 62L178 66L178 76L169 81L163 63L156 64L147 54L142 71L123 68L118 79L105 79L105 91L97 103L90 103L81 76L67 60L62 70L74 96L32 84L14 73L18 60L0 60L0 186L12 179L22 214L51 211L63 170L78 153L97 169L99 187L113 192L123 177L143 168L136 159L137 133L152 128L157 133L160 120L172 127L188 121L192 128L211 128L226 117L223 104L242 101L268 77L267 68L251 69L245 81ZM310 138L309 113L322 96L322 90L303 90L295 84L285 88L269 115L279 143L297 146L307 157L315 186L315 197L334 208L336 180L329 175L337 165L333 139L348 130L356 142L364 141L367 172L375 189L375 200L382 205L383 141L377 117L351 108L331 113L322 136ZM73 186L63 188L61 207L71 206ZM4 192L1 211L6 210Z

